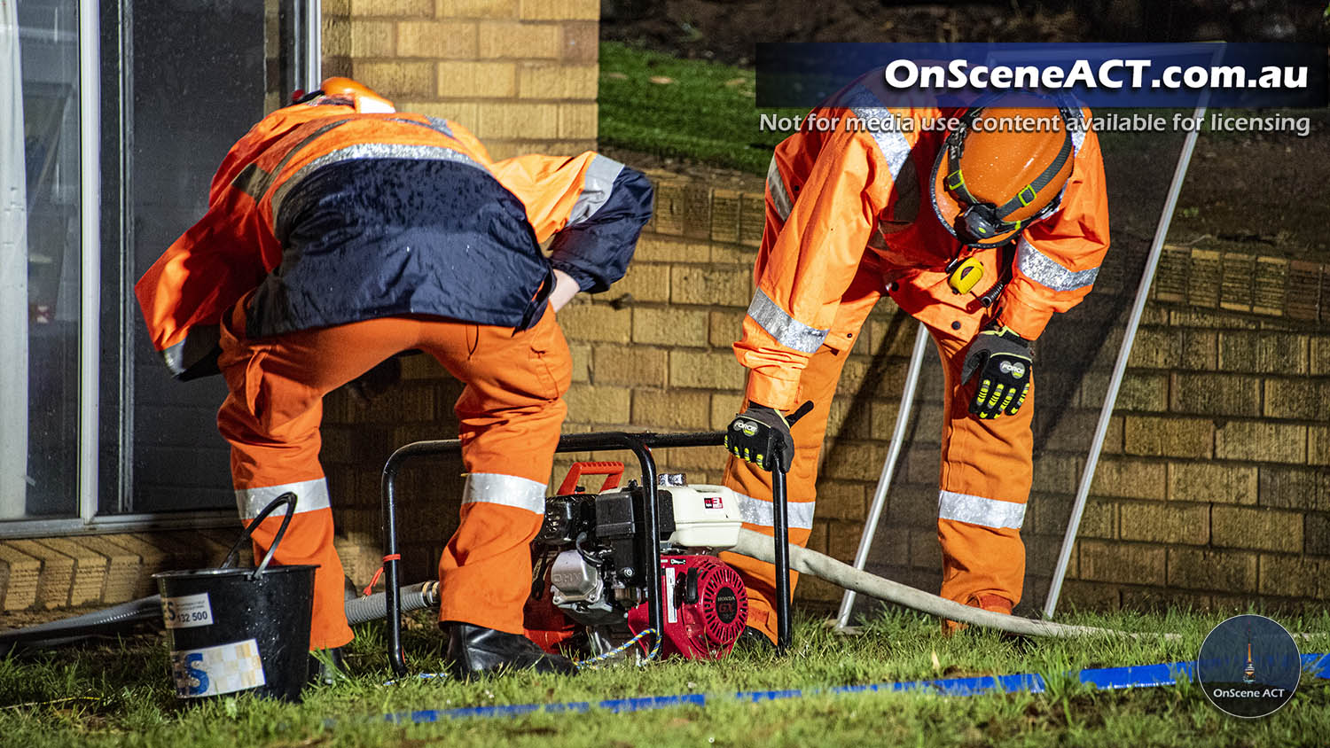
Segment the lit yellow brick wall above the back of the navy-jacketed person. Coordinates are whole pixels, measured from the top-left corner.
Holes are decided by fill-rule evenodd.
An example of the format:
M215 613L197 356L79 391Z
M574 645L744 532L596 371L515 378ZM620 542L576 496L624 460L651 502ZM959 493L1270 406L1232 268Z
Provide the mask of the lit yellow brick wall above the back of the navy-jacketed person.
M447 117L493 158L596 143L596 0L326 0L323 73Z

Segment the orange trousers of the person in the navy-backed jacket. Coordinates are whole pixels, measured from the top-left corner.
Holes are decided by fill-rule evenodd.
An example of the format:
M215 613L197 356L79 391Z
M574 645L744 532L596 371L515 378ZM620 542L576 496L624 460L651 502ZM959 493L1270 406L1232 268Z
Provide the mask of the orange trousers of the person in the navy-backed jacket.
M572 356L555 314L513 331L438 318L380 318L269 339L245 337L243 304L222 327L230 395L217 426L231 445L242 518L285 492L297 514L277 563L317 563L311 648L351 640L332 510L319 465L323 396L400 351L419 349L466 383L454 412L467 469L462 523L439 561L440 620L521 634L531 594L531 541L568 407ZM267 549L281 517L254 533Z

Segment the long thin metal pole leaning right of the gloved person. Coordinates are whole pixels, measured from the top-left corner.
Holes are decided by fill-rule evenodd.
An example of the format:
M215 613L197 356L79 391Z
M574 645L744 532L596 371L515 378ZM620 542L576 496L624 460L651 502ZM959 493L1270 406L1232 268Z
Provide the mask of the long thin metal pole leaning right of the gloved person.
M1205 116L1206 101L1202 98L1196 108L1197 121ZM1169 223L1173 222L1173 209L1177 207L1177 195L1182 191L1182 181L1186 177L1186 166L1192 162L1192 150L1196 147L1196 138L1201 129L1194 128L1186 133L1182 141L1182 155L1177 159L1173 170L1173 183L1168 190L1168 199L1164 202L1164 214L1160 215L1158 226L1154 229L1154 240L1150 244L1150 254L1145 260L1145 271L1141 274L1141 284L1136 290L1136 303L1132 306L1132 316L1127 320L1127 333L1123 336L1123 347L1117 351L1117 361L1113 364L1113 376L1108 380L1108 395L1104 396L1104 407L1099 412L1099 424L1095 426L1095 440L1089 446L1089 457L1085 460L1085 469L1081 472L1080 485L1076 488L1076 504L1072 505L1072 518L1067 523L1067 534L1063 535L1063 549L1057 554L1057 566L1053 569L1053 581L1048 586L1048 599L1044 601L1044 616L1052 618L1057 610L1057 598L1063 593L1063 581L1067 578L1067 565L1072 558L1072 546L1076 545L1076 533L1080 530L1081 514L1085 513L1085 500L1089 498L1089 484L1095 480L1095 468L1099 466L1099 453L1104 448L1104 436L1108 433L1108 420L1113 415L1113 405L1117 403L1117 391L1123 384L1123 373L1127 371L1127 360L1132 355L1132 341L1136 339L1136 328L1141 323L1141 314L1145 312L1145 302L1154 282L1154 270L1158 267L1160 252L1164 250L1164 238L1168 235Z

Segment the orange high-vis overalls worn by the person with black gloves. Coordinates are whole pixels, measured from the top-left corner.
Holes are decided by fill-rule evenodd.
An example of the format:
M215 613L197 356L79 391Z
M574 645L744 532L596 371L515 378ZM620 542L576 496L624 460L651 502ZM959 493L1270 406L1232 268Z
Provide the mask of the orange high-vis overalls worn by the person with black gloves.
M1007 250L1012 279L990 310L979 298L991 280L958 295L944 268L954 258L975 256L984 278L998 279L1003 254L963 248L930 205L930 174L947 133L926 124L959 110L884 108L862 85L834 104L815 113L839 117L837 129L805 129L775 147L754 267L757 292L734 345L749 369L745 404L790 411L814 403L791 429L790 541L805 545L813 527L818 460L845 359L872 306L888 294L927 327L946 372L938 500L942 594L967 605L984 595L1016 603L1024 578L1020 526L1031 486L1033 407L1027 401L1017 415L994 420L970 416L974 387L959 381L960 365L970 341L994 316L1033 340L1055 312L1089 292L1108 248L1099 141L1091 130L1075 134L1075 167L1061 209L1025 229ZM1088 121L1088 110L1081 114ZM906 120L915 126L880 126ZM879 126L862 126L868 121ZM771 534L770 473L730 458L725 484L742 494L745 526ZM725 559L749 586L750 624L774 636L773 566L734 554Z

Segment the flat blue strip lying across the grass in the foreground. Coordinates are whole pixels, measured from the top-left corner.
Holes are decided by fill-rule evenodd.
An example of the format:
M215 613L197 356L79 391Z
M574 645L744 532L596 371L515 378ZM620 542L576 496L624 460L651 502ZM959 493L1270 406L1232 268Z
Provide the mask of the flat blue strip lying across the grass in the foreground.
M1128 667L1087 668L1077 675L1081 683L1097 688L1152 688L1173 686L1178 675L1192 678L1194 662L1172 662L1158 664L1136 664ZM1314 678L1330 679L1330 654L1302 655L1302 668ZM942 678L936 680L906 680L899 683L872 683L866 686L837 686L831 688L782 688L777 691L737 691L730 696L708 699L705 694L678 694L674 696L640 696L636 699L605 699L602 701L561 701L556 704L507 704L491 707L459 707L454 709L420 709L384 715L394 723L430 723L462 717L519 717L535 712L588 712L592 708L614 713L665 709L672 707L705 707L708 701L738 700L749 703L779 701L799 699L819 694L870 694L887 691L926 691L940 696L978 696L980 694L1009 694L1025 691L1041 694L1048 684L1033 672L1016 675L986 675L982 678Z

